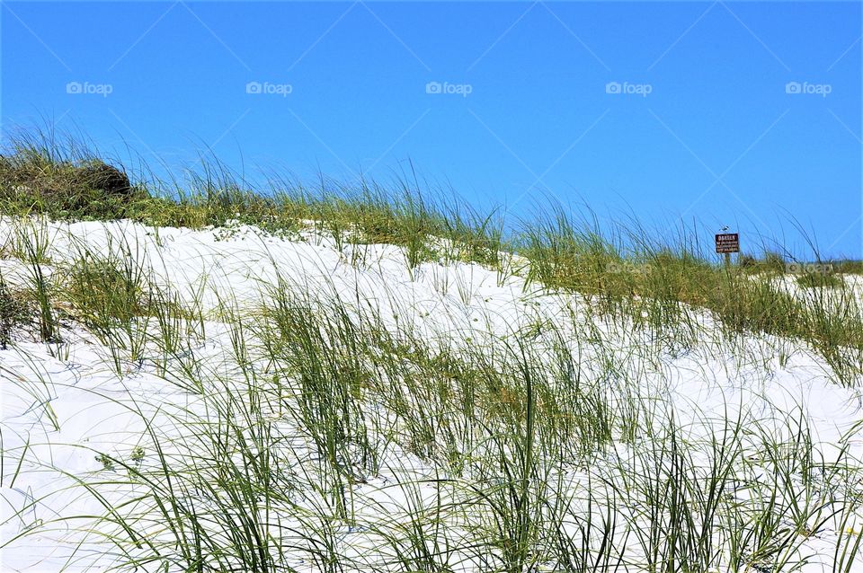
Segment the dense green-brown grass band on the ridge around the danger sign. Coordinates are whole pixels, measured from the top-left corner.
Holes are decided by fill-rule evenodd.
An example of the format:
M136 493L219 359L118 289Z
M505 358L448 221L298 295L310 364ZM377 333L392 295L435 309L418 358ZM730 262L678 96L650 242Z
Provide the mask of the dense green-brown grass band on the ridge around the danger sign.
M707 309L730 332L803 339L824 357L863 349L863 313L851 293L843 304L826 304L820 296L797 297L752 276L751 260L728 268L708 262L686 235L669 245L649 242L637 229L618 226L616 233L609 238L597 226L575 225L562 213L529 227L520 248L529 260L529 280L592 295L603 312L627 316L656 332L685 335L698 323L692 311ZM785 272L780 260L768 254L754 264L774 275ZM845 288L834 275L805 280ZM845 366L848 373L863 370L858 359Z

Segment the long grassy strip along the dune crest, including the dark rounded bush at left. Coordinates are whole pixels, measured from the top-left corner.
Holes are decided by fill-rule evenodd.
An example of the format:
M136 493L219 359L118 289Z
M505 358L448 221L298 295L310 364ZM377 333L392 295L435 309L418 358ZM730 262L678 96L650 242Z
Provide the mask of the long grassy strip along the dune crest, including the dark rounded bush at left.
M54 219L132 219L146 225L200 229L255 225L271 234L296 233L315 221L337 242L388 243L405 247L415 266L423 260L494 264L503 250L503 221L480 216L460 200L440 204L424 198L418 183L401 182L388 193L377 184L359 188L333 183L310 191L273 178L266 194L249 190L242 177L215 161L190 172L187 181L128 183L112 167L72 138L35 132L13 139L0 155L0 213ZM115 162L116 163L116 162ZM429 238L446 241L441 252Z

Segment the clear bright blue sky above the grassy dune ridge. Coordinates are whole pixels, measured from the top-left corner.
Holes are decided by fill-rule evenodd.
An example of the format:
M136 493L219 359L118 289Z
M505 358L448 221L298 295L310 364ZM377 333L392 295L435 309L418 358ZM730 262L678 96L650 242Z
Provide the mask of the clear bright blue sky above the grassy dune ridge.
M308 182L410 160L515 216L586 201L731 225L744 247L796 243L793 217L824 254L863 256L856 2L8 2L0 18L4 137L48 118L151 163L210 146Z

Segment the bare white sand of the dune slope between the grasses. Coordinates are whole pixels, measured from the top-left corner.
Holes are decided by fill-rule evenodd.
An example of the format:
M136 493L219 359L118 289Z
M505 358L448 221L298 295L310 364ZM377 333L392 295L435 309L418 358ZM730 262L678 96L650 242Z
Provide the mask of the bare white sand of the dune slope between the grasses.
M0 237L9 228L4 223ZM265 287L281 276L298 292L323 299L337 296L358 313L377 315L387 328L410 329L429 340L444 339L455 348L491 345L542 319L565 325L576 344L584 326L580 322L592 320L592 314L585 312L589 303L575 295L543 294L521 278L500 278L476 264L423 263L408 270L404 254L396 247L369 245L362 252L351 252L346 246L338 251L331 237L313 231L290 240L242 226L230 233L160 229L156 234L141 225L118 222L55 224L50 234L49 254L58 267L76 251L76 245L108 249L125 240L136 256L152 266L157 281L170 285L187 301L202 289L208 310L217 308L219 301L236 300L241 308L255 304ZM0 270L11 284L25 281L26 269L20 261L2 260ZM567 309L574 310L573 318ZM709 317L704 324L709 329ZM626 325L597 324L597 328L621 352L648 344ZM102 504L76 486L76 480L104 472L93 452L128 455L141 443L144 423L132 410L145 412L154 425L170 434L174 419L166 412L172 405L197 408L195 397L165 383L154 366L129 364L128 373L120 378L111 371L106 348L81 327L67 325L64 337L62 344L49 346L20 335L13 348L0 351L0 429L5 453L0 489L2 542L55 516L104 513ZM195 352L216 365L229 344L226 326L212 321L207 325L207 338ZM584 348L585 357L599 352L589 341ZM793 348L784 366L779 365L778 348ZM768 419L800 406L825 456L834 455L841 443L847 443L851 456L863 458L863 442L855 428L863 418L859 392L833 383L829 368L799 345L770 337L725 344L706 341L700 348L666 352L659 368L641 369L636 362L629 361L626 367L635 369L645 394L668 398L693 436L713 428L728 409ZM779 422L776 431L783 431ZM299 442L295 446L307 447ZM619 447L621 452L626 450L624 445ZM387 508L395 515L396 507L405 503L404 491L394 486L400 472L431 474L430 468L396 445L389 446L385 457L397 470L385 468L368 483L355 486L360 515L369 519L386 513ZM573 472L568 479L576 484L579 475ZM133 496L127 489L113 490L117 502ZM22 508L26 510L18 514ZM11 542L2 550L0 569L107 568L116 548L98 535L83 533L88 519L52 525L49 531ZM153 531L157 529L154 524ZM452 531L456 535L458 529ZM356 552L358 560L375 568L361 529L346 527L339 535L344 551ZM803 544L805 551L821 556L802 570L831 570L835 535L827 525ZM314 569L301 558L292 566ZM859 568L863 570L863 561Z

